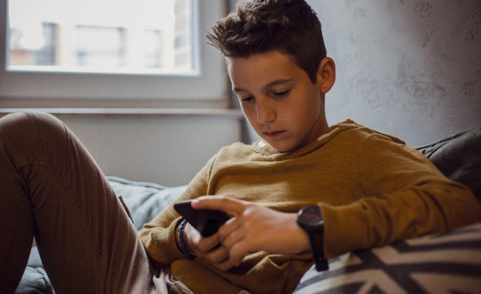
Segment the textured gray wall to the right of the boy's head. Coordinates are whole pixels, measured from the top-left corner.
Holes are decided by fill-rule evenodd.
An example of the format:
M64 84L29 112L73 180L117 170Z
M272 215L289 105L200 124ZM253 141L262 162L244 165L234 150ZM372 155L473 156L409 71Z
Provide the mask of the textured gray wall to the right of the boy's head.
M311 0L345 117L411 146L481 124L480 0Z

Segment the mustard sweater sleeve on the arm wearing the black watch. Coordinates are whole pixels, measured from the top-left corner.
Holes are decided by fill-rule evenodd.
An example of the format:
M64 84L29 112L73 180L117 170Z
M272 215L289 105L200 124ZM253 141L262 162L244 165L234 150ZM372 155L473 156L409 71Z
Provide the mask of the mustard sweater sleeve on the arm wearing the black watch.
M481 221L471 190L447 179L421 152L374 133L364 139L359 157L367 197L321 204L329 258Z

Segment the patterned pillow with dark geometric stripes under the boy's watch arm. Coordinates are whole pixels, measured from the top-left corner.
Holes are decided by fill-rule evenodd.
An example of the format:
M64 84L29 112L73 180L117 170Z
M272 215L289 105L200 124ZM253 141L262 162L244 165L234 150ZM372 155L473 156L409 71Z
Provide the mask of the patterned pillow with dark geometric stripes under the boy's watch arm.
M481 223L346 253L329 267L311 267L295 293L481 293Z

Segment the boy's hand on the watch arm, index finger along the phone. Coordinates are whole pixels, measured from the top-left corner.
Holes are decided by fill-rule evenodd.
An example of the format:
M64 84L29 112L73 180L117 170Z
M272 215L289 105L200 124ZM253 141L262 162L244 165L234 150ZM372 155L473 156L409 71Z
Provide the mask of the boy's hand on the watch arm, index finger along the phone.
M238 266L251 252L300 253L309 250L309 236L299 227L296 213L271 210L247 201L225 196L202 196L192 207L223 210L234 217L219 228L219 236L227 250L227 265ZM216 237L217 238L217 237Z

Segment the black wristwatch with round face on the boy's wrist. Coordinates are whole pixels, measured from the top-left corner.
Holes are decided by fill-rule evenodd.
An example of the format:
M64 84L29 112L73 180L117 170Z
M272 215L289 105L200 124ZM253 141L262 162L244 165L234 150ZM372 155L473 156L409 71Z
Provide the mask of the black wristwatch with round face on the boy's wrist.
M306 231L311 242L314 255L315 269L326 271L329 264L324 257L324 219L317 205L304 206L298 213L298 225Z

